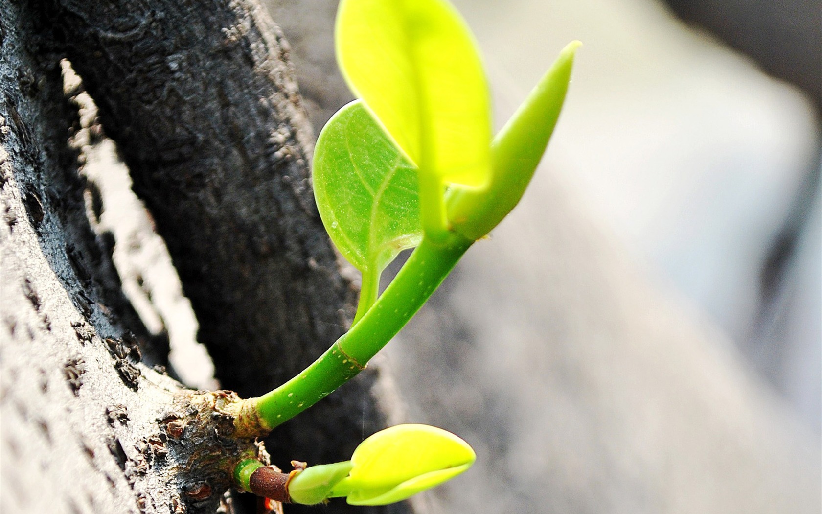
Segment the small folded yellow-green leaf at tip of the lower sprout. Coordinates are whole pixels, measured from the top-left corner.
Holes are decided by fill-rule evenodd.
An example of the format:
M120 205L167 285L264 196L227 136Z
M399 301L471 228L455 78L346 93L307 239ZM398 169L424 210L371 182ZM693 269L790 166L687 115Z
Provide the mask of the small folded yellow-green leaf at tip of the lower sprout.
M463 473L476 458L467 442L442 428L400 424L360 443L351 475L331 494L352 505L399 502Z

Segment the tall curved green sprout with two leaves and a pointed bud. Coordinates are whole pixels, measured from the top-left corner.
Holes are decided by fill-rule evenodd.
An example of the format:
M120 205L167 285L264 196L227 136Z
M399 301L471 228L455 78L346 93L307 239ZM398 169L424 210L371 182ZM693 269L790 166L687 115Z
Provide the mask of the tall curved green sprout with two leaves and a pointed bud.
M350 330L319 359L238 408L238 433L275 428L362 371L464 252L516 206L556 125L580 45L561 51L492 137L477 44L446 0L342 0L335 44L358 100L322 129L313 183L330 238L362 273L358 309ZM414 248L408 261L380 293L382 271L407 248ZM396 451L395 464L380 468L386 476L404 473L399 463L407 459ZM333 485L336 478L329 477L348 473L343 465L302 471L293 487L320 485L294 489L296 497L311 503L349 488L344 495L352 503L398 501L413 484L429 484L435 476L409 476L410 482L390 489L373 481L366 486L358 479L357 454L351 462L350 475Z

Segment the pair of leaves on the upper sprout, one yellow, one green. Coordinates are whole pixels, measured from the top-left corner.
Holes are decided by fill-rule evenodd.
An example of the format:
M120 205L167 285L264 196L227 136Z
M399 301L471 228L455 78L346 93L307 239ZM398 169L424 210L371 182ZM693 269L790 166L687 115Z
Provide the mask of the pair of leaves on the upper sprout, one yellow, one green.
M323 128L314 189L363 295L372 290L362 306L400 251L445 229L446 184L488 182L490 106L476 44L445 0L343 0L336 49L361 100Z

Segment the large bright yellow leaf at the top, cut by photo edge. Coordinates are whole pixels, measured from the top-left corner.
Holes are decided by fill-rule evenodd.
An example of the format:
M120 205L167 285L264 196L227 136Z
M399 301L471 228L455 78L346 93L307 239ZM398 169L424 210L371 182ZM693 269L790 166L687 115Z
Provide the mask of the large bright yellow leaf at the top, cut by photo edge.
M487 183L487 81L477 45L454 7L446 0L343 0L336 49L354 94L418 164L423 179L471 188Z

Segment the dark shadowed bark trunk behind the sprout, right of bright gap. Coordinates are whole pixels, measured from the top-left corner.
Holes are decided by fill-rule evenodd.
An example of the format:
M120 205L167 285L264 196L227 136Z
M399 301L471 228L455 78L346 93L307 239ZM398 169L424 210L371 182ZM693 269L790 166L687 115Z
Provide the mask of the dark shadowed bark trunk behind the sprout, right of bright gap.
M169 247L221 385L256 396L284 382L343 333L353 289L313 203L312 132L279 30L245 1L41 5ZM278 429L274 461L347 458L384 423L374 378Z

